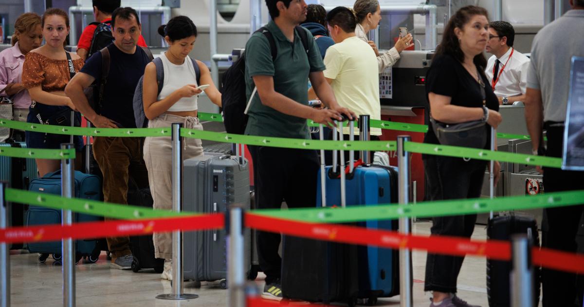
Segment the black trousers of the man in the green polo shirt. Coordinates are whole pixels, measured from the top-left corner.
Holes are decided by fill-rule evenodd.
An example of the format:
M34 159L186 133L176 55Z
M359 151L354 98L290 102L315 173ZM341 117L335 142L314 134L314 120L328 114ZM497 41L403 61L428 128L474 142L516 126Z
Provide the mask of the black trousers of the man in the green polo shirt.
M318 157L314 150L248 146L253 160L255 203L258 209L315 207ZM258 260L266 284L280 279L279 233L257 232Z

